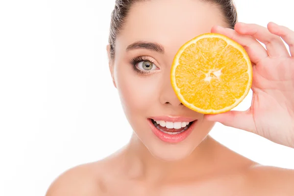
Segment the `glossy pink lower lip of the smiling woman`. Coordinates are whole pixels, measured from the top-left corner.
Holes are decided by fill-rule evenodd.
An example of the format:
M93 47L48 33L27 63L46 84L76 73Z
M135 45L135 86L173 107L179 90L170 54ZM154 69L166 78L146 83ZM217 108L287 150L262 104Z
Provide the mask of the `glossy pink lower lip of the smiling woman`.
M155 120L155 119L154 119ZM160 119L160 120L163 120L163 119ZM181 119L183 120L183 119ZM187 120L187 118L186 118ZM169 119L169 122L170 119ZM176 122L176 121L175 121ZM183 121L183 122L188 122L188 121ZM154 124L152 123L151 119L148 119L148 124L152 130L152 132L162 141L164 142L167 142L167 143L172 143L172 144L176 144L176 143L179 143L183 140L185 140L193 131L195 125L196 125L197 121L193 122L189 128L187 130L185 130L184 132L182 133L178 133L178 134L175 134L175 135L170 135L170 134L167 134L167 133L164 133L160 130L158 130Z

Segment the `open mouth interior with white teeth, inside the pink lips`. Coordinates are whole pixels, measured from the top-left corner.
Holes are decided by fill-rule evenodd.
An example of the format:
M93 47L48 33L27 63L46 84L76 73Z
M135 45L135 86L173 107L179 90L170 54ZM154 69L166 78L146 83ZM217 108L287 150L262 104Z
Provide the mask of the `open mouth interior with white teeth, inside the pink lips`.
M154 121L150 119L153 125L163 133L169 135L176 135L186 131L194 122L166 122L166 121Z

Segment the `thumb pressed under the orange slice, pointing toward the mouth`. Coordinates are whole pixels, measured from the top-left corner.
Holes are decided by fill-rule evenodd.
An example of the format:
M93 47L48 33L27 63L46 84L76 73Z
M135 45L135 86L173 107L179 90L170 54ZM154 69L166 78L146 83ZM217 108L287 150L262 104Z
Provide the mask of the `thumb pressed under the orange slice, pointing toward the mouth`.
M222 123L225 126L255 132L255 123L250 110L247 111L228 111L222 114L209 114L204 116L208 121Z

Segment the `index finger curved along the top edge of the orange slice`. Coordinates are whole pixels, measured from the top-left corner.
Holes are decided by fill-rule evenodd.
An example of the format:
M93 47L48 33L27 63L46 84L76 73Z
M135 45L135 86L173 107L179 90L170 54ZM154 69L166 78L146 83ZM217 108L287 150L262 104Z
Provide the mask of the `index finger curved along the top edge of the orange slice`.
M252 36L241 35L234 29L223 28L221 26L214 26L211 31L213 33L223 34L241 44L254 64L257 64L261 59L268 57L267 50Z

